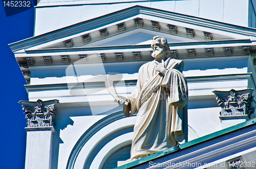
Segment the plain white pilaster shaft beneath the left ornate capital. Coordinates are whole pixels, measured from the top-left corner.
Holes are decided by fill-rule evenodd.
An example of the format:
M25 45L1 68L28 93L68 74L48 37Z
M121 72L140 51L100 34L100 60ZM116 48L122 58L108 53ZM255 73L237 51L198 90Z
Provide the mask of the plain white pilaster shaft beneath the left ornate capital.
M52 164L51 127L26 127L27 147L25 169L50 169Z

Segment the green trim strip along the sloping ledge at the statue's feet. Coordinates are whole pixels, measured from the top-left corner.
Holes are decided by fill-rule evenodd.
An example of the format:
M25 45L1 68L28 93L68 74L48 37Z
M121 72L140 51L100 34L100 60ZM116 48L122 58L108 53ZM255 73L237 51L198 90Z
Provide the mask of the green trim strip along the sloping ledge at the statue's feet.
M240 124L237 124L237 125L234 125L234 126L231 126L231 127L228 127L228 128L225 128L225 129L222 129L222 130L219 130L219 131L216 131L214 133L211 133L211 134L208 134L208 135L205 135L205 136L193 139L193 140L191 140L189 142L186 142L184 144L181 144L179 146L169 148L167 150L158 152L156 154L152 154L150 156L144 157L144 158L136 160L136 161L132 161L130 163L121 165L121 166L119 166L117 168L118 169L126 169L126 168L135 167L136 165L139 165L139 164L151 161L153 159L161 158L164 155L168 155L170 153L174 153L176 151L179 151L179 150L182 150L182 149L185 149L185 148L188 148L188 147L195 146L197 144L206 142L207 140L210 140L210 139L213 139L213 138L225 135L227 133L230 133L232 131L236 131L236 130L239 130L241 128L245 128L245 127L248 127L250 125L255 125L255 124L256 124L256 118L251 119L251 120L246 121L246 122L243 122L243 123L240 123Z

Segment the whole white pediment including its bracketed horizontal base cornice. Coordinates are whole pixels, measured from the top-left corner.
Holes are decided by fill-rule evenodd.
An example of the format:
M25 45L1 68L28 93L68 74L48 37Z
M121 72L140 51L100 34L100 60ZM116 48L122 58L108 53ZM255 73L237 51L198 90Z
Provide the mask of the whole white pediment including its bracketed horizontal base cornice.
M119 25L125 28L121 26L120 30ZM87 41L85 36L89 37ZM37 66L151 61L154 36L165 37L170 48L168 57L178 59L239 57L256 50L256 29L141 6L34 36L10 44L10 48L29 80L30 70Z

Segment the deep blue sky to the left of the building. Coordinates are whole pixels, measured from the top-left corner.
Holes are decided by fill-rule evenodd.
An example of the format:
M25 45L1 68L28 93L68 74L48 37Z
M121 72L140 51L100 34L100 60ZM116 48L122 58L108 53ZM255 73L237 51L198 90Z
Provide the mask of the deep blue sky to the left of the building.
M24 168L26 122L20 100L28 100L26 80L8 44L33 36L34 8L7 17L0 4L1 167Z

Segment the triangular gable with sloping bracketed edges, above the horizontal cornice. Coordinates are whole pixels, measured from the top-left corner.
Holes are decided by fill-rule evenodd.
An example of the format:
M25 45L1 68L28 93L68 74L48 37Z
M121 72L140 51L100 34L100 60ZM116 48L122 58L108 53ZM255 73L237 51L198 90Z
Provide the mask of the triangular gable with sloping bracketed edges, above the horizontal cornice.
M140 25L141 23L143 25ZM125 30L120 32L119 29L122 29L122 24ZM121 27L119 27L120 25ZM138 37L138 33L143 36ZM127 40L126 37L128 36L131 36L130 39L133 36L136 38L133 38L134 43L131 43L131 40L127 43L138 44L152 39L153 35L164 36L169 42L252 39L256 37L256 30L174 12L135 6L10 44L10 48L13 52L20 52L24 49L67 46L89 47L106 46L106 44L111 46L117 45L120 40ZM84 36L90 39L89 43L82 38ZM72 43L72 45L66 46L65 42Z

